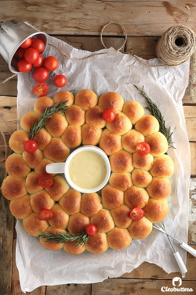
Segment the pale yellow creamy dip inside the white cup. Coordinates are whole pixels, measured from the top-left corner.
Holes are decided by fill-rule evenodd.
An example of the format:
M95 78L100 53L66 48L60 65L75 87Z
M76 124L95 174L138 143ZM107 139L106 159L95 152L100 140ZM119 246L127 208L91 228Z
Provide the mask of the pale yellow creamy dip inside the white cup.
M95 151L84 150L73 156L68 166L72 182L80 188L98 187L106 177L104 159Z

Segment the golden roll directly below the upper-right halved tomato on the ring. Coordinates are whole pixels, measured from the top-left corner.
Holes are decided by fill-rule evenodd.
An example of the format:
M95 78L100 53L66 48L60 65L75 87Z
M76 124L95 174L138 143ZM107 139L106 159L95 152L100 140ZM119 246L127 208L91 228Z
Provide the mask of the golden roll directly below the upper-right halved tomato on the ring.
M148 153L146 156L141 156L134 152L132 154L132 164L134 168L143 169L149 171L152 168L153 156Z

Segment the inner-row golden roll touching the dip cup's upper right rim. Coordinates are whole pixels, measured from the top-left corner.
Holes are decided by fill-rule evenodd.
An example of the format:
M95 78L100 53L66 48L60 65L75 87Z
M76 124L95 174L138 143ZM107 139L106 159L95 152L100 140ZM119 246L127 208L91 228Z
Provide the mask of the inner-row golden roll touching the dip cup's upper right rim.
M108 155L122 149L121 136L104 129L101 135L99 147Z

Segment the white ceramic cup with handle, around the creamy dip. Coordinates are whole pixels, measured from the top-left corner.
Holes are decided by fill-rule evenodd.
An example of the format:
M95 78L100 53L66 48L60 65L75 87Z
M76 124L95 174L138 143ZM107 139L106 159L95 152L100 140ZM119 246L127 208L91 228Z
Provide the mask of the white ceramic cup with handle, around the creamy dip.
M92 189L85 189L85 188L78 187L77 185L75 185L73 183L73 181L71 180L69 173L68 173L69 164L70 164L70 161L72 160L73 156L78 154L79 152L85 151L85 150L94 151L94 152L98 153L103 158L103 160L106 164L106 177L105 177L105 179L103 180L103 182L99 186L92 188ZM95 192L98 192L100 189L102 189L107 184L107 182L110 178L111 168L110 168L110 161L108 159L108 156L101 148L98 148L95 146L82 146L82 147L76 148L68 156L68 158L65 162L52 163L52 164L46 165L46 172L49 174L64 173L67 182L69 183L69 185L73 189L75 189L81 193L95 193Z

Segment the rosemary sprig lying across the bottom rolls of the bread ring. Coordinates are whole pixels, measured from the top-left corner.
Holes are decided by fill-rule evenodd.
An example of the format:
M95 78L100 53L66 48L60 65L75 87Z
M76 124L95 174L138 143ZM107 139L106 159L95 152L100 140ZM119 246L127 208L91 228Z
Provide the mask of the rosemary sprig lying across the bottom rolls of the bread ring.
M81 245L83 247L89 239L89 235L87 235L86 232L81 232L79 234L72 235L70 233L66 234L63 232L58 232L58 233L54 234L50 231L47 233L40 231L40 234L38 236L41 239L47 238L46 242L56 241L56 244L77 240L77 243L75 244L75 246L77 246L77 247L79 245Z

